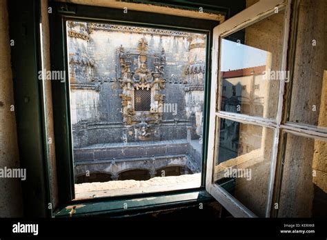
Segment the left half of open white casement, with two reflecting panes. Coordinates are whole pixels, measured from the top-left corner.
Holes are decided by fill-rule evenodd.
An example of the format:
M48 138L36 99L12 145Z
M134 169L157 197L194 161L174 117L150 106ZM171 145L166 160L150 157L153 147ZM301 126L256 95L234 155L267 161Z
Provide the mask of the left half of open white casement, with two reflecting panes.
M206 190L235 217L270 216L288 16L262 0L214 29Z

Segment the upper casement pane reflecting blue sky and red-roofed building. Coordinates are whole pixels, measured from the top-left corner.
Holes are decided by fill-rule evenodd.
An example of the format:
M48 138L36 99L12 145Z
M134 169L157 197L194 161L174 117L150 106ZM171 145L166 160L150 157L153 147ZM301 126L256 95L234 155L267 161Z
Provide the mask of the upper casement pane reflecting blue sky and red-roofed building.
M221 39L221 110L275 119L284 11Z

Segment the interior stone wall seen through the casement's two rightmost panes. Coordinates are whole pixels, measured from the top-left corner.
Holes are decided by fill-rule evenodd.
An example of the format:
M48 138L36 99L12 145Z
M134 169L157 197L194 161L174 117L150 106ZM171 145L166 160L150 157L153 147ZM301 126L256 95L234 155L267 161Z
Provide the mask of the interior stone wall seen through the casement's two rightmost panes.
M326 128L327 2L299 6L290 121ZM313 40L317 45L313 45ZM313 111L313 105L317 110ZM279 217L326 217L327 143L288 134Z

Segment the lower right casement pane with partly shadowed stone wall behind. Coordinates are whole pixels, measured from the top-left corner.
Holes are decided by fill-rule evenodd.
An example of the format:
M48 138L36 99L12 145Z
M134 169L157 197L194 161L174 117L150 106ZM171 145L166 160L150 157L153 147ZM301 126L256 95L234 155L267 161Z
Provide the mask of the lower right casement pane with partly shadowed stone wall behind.
M286 134L278 217L327 216L327 142Z

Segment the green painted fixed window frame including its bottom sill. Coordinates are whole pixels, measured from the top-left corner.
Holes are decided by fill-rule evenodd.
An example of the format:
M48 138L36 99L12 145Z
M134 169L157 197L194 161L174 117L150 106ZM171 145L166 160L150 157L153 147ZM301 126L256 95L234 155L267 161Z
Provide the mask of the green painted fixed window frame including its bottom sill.
M52 70L63 70L68 78L67 45L66 45L66 21L97 21L105 23L119 23L132 26L158 27L174 30L186 30L189 32L199 32L206 34L206 81L204 94L204 137L202 151L202 172L201 187L188 190L175 190L168 192L155 192L151 194L133 194L118 197L101 197L97 199L87 199L72 201L74 199L74 174L72 139L70 129L69 112L69 83L64 84L59 81L52 81L52 103L54 114L54 132L56 140L57 176L59 189L59 206L54 210L52 217L64 217L70 214L68 206L85 205L86 208L76 208L77 215L86 216L88 214L100 214L100 212L121 212L125 209L118 207L128 201L135 209L155 208L156 205L166 208L174 204L203 202L211 199L205 191L206 181L206 156L208 152L208 120L210 106L210 74L211 74L211 49L212 31L219 24L217 21L192 19L186 17L175 17L170 15L155 14L150 12L137 12L128 10L128 14L123 14L123 10L103 8L95 6L83 6L68 3L53 2L53 13L50 15L50 48L51 48L51 68ZM135 19L139 21L135 22ZM175 26L172 26L175 25ZM195 197L197 196L197 197ZM201 196L201 197L199 197ZM154 198L155 197L155 198ZM181 201L178 201L178 197ZM154 199L153 199L154 198ZM138 200L136 200L138 199ZM141 199L141 201L139 201ZM153 200L149 200L153 199ZM108 204L110 203L110 204ZM126 214L126 212L123 212Z

